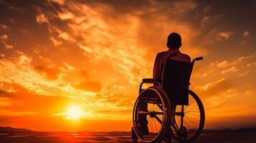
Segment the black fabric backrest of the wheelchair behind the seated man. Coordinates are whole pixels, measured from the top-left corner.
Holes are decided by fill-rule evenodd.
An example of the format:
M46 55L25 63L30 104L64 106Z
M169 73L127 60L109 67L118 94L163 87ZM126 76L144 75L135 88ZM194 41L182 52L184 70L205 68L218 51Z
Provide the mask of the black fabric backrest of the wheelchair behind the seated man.
M189 79L194 62L167 58L163 66L161 84L171 104L189 104Z

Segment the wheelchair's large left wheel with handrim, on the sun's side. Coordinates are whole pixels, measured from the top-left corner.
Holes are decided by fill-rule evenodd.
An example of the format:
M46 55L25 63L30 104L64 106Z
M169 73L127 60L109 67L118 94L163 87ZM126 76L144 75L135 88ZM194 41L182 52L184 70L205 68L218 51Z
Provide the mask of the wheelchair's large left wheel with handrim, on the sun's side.
M171 103L160 87L148 87L133 108L133 129L142 142L161 142L171 126Z

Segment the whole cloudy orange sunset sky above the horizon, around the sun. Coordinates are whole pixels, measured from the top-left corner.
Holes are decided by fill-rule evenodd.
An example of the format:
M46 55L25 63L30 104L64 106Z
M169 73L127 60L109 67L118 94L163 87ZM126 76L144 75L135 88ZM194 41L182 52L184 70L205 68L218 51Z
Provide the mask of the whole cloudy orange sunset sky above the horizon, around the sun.
M173 31L181 51L204 56L190 89L206 128L256 125L255 1L27 2L0 0L0 126L130 130L141 79Z

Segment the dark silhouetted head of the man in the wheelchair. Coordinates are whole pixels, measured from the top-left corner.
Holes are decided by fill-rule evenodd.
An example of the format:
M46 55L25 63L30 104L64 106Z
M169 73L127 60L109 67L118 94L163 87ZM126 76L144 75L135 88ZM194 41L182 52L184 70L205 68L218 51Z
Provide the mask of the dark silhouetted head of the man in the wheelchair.
M169 34L166 45L169 49L179 49L181 47L181 36L176 33Z

